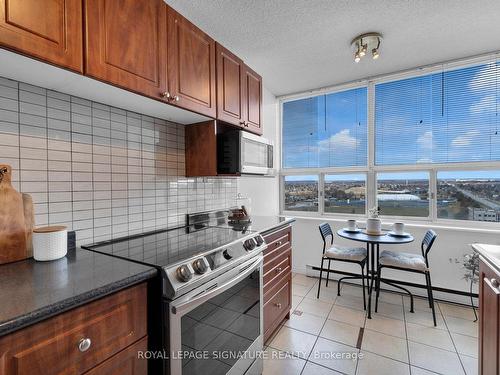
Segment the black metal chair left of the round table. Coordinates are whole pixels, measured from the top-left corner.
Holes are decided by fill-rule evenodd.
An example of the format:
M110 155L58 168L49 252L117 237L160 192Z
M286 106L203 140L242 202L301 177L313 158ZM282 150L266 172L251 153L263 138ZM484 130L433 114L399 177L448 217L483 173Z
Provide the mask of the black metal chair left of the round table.
M328 261L328 270L326 272L326 286L328 286L328 280L330 278L330 272L339 273L339 271L332 270L330 264L332 260L338 262L348 262L348 263L356 263L361 267L361 275L360 276L344 276L338 280L337 284L337 295L340 296L340 283L342 280L347 279L361 279L361 283L363 284L363 307L366 310L366 296L365 296L365 264L367 259L367 251L366 248L363 247L347 247L347 246L339 246L333 244L333 232L330 224L322 223L319 225L319 232L321 233L321 237L323 238L323 255L321 257L321 270L319 271L319 284L318 284L318 295L321 288L321 278L323 276L323 265L324 262ZM328 243L328 237L330 237L330 243Z

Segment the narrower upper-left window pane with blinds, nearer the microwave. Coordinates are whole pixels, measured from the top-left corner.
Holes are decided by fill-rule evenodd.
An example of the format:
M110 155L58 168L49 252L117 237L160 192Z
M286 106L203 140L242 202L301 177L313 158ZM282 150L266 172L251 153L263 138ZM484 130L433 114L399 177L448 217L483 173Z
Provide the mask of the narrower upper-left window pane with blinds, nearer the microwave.
M283 103L283 168L367 165L366 87Z

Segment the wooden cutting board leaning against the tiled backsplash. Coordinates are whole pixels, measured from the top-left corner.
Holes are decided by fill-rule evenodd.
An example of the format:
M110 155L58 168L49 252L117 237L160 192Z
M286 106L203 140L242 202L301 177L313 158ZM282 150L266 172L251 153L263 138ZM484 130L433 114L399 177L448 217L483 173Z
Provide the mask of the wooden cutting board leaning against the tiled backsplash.
M12 187L12 168L0 164L0 264L33 256L33 201Z

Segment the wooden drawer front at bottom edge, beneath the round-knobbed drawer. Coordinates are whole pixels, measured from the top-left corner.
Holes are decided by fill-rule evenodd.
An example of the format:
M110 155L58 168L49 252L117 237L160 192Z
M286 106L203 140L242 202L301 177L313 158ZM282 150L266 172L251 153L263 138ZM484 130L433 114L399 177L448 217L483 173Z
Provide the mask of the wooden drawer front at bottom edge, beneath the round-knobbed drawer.
M138 358L137 352L148 350L147 336L94 367L85 375L147 375L148 360Z

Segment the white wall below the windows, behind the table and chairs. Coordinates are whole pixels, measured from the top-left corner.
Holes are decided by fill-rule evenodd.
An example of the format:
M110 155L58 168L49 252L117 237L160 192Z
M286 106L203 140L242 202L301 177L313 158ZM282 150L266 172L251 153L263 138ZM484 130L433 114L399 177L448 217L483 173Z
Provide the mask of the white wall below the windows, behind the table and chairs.
M321 222L328 221L334 232L345 227L345 220L326 220L325 218L301 218L297 219L293 226L293 270L299 273L306 273L307 266L319 266L321 264L321 252L323 242L319 234L318 225ZM389 227L390 223L384 225ZM463 279L465 270L462 264L456 261L462 261L464 254L472 252L471 243L491 243L500 244L500 231L493 230L471 230L469 228L449 228L430 226L424 224L407 225L405 230L412 233L415 241L406 245L385 245L381 246L380 250L398 250L420 254L420 242L428 229L434 229L438 234L438 238L429 253L429 262L431 268L432 284L435 287L442 287L452 290L469 291L469 283ZM335 235L335 242L340 245L355 246L353 241L345 240ZM332 263L332 268L333 268ZM359 272L359 266L335 263L335 267L344 271ZM317 274L311 272L308 274ZM424 284L425 280L422 275L413 274L410 272L399 272L396 270L385 270L384 276L392 279L400 279L409 282ZM338 275L335 276L339 277ZM389 288L390 289L390 288ZM417 294L424 294L424 290L413 290ZM477 292L477 285L474 289ZM446 300L467 303L469 300L465 297L455 296L449 293L435 293L435 297Z

